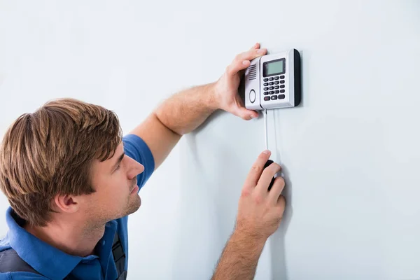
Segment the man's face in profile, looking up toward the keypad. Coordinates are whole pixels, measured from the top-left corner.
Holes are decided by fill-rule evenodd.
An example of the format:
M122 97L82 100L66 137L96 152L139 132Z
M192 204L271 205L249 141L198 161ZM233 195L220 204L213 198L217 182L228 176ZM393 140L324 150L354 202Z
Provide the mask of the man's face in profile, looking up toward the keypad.
M106 223L134 213L141 200L137 175L144 172L144 166L124 154L121 143L112 158L92 166L92 186L95 193L88 195L87 214L93 221Z

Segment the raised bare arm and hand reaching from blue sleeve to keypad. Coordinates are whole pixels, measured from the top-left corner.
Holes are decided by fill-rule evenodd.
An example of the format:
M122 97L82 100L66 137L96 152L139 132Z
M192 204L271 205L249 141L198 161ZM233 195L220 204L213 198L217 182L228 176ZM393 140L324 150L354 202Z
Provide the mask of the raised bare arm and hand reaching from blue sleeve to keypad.
M167 158L183 134L199 127L217 109L228 111L244 120L258 116L244 108L238 94L241 74L255 57L265 55L257 43L243 52L226 67L225 73L215 83L191 87L165 100L148 118L132 132L143 139L155 159L155 169Z

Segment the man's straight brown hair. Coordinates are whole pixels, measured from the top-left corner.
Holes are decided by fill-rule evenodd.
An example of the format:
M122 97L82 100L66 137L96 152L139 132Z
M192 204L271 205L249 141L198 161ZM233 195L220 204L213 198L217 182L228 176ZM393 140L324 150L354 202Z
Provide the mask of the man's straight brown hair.
M94 193L92 161L111 158L122 140L118 117L102 106L55 99L10 125L0 146L0 188L31 225L50 221L58 194Z

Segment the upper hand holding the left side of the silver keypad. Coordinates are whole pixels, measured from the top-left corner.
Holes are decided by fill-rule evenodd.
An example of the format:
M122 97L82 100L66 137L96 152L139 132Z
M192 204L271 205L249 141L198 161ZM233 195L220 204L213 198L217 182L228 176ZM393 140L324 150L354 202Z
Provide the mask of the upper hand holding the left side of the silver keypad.
M260 48L260 44L256 43L247 52L242 52L235 57L233 62L226 67L223 76L218 79L215 84L215 98L218 108L228 111L244 120L258 117L258 113L248 110L244 106L241 97L239 97L238 87L241 82L241 76L244 70L251 64L251 60L267 54L267 49Z

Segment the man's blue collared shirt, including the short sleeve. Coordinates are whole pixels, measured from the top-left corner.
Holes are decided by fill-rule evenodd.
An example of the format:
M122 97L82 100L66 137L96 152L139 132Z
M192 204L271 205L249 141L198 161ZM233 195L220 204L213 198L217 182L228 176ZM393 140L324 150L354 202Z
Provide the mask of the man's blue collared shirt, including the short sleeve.
M144 165L144 172L137 176L141 189L155 169L155 160L147 144L137 135L129 134L123 138L125 154ZM10 207L6 211L8 233L0 240L0 252L13 248L22 260L42 275L30 272L0 273L0 280L13 279L117 279L117 269L113 260L112 244L118 231L126 255L125 270L128 262L128 233L125 216L106 223L102 239L97 244L97 255L85 258L69 255L29 234L20 226L22 220ZM44 277L45 276L45 277Z

